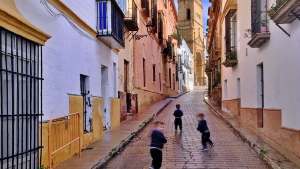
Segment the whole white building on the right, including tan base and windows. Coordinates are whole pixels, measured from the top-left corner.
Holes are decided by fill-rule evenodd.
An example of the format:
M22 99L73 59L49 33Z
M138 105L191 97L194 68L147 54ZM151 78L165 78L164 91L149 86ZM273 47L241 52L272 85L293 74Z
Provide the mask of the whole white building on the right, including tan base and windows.
M286 12L270 17L272 4L277 5L275 0L222 1L222 105L300 165L300 20L287 9L300 3L288 1L281 8ZM257 7L261 11L255 12ZM286 22L278 19L290 16ZM236 58L227 58L228 51Z

